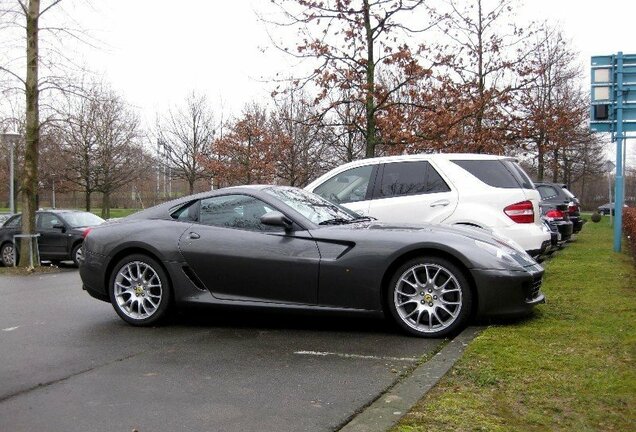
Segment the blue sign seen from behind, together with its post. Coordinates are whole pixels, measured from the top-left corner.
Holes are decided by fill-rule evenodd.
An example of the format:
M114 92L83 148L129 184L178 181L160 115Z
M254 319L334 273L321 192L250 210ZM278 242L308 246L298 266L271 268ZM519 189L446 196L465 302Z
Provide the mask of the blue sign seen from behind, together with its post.
M621 251L623 236L623 140L636 132L636 54L592 57L590 129L610 132L616 141L614 188L614 252Z

